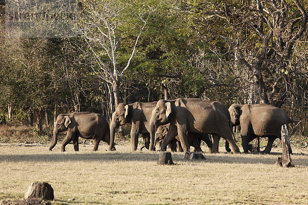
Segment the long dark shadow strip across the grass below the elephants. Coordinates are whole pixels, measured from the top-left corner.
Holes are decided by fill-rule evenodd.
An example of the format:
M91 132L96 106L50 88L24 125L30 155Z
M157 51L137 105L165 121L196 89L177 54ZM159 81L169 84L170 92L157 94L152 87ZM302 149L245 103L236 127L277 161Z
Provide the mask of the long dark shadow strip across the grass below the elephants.
M175 163L182 163L184 153L173 154L172 159ZM281 156L281 153L267 154L265 157L255 154L209 154L204 153L206 160L194 161L195 163L213 162L213 163L240 163L240 164L265 164L272 165L276 159ZM306 155L304 155L306 156ZM48 154L12 154L1 155L1 161L9 162L27 162L27 161L42 161L42 162L61 162L61 161L151 161L157 162L159 153L119 153L119 152L105 152L105 153L48 153ZM291 155L292 159L292 155ZM304 158L292 159L296 166L308 166L308 161Z

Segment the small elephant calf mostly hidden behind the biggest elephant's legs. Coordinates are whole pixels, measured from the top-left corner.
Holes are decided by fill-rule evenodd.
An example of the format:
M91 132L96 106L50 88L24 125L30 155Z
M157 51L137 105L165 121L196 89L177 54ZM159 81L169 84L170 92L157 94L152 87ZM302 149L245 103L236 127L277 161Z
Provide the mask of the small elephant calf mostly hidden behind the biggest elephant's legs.
M162 141L165 136L167 135L169 129L170 129L170 124L167 125L163 125L163 126L159 126L156 130L155 133L155 145L157 142ZM176 129L174 129L176 130ZM169 147L171 149L172 152L176 152L177 151L177 142L180 142L180 139L178 137L178 133L175 133L176 136L174 136L174 138L171 140ZM200 144L201 144L201 140L205 141L209 152L211 152L211 148L213 147L213 143L211 142L208 134L199 134L199 133L193 133L193 132L188 132L187 133L187 137L188 137L188 145L192 146L195 148L194 152L203 152ZM154 147L155 147L154 145ZM179 146L181 146L179 144ZM182 147L179 149L181 152L183 152Z

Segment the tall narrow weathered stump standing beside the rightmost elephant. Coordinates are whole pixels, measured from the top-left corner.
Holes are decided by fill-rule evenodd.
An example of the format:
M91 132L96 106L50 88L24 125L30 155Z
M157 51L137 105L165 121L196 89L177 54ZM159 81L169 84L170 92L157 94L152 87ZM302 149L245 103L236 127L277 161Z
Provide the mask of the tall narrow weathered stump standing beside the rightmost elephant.
M282 146L282 156L278 157L276 165L280 167L294 167L289 152L289 150L291 150L291 146L286 125L281 126L281 146Z

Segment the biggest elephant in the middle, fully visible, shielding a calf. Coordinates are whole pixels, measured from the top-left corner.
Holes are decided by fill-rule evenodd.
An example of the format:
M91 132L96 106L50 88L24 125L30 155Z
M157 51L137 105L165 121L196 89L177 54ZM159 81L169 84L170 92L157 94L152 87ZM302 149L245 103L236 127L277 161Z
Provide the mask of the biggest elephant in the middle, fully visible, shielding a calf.
M233 153L240 153L236 145L230 126L228 109L218 101L201 100L195 98L159 100L152 111L150 119L150 150L155 142L155 128L159 125L171 123L170 129L162 141L161 151L166 150L174 133L178 132L181 145L185 152L189 151L187 131L212 134L214 144L212 152L218 152L220 137L227 140Z

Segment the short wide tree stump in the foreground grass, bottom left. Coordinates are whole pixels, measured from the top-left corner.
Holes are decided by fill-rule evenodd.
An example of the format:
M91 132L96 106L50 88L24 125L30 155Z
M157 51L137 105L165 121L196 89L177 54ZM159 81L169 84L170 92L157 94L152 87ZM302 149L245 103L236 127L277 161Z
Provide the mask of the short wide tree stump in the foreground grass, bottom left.
M53 189L47 182L34 182L25 194L27 198L42 198L45 200L53 200Z

